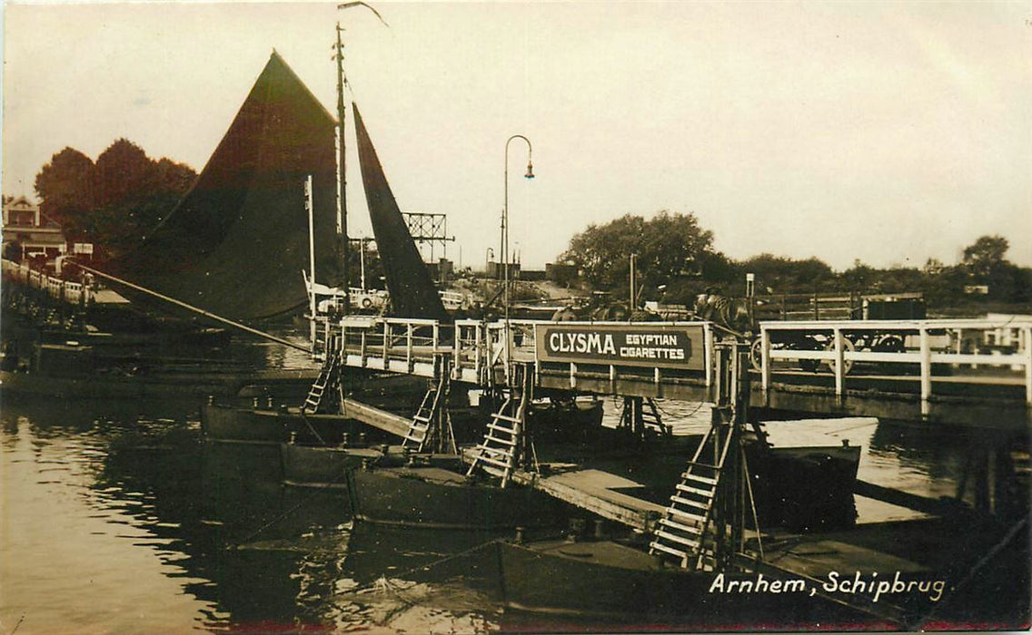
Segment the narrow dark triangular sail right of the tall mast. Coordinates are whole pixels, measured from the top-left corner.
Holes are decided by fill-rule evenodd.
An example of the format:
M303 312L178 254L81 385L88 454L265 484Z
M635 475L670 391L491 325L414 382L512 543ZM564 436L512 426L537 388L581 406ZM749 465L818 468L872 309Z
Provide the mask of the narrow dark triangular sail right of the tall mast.
M377 238L377 250L387 274L393 313L404 318L445 320L448 313L387 185L362 115L358 106L353 103L352 107L355 109L355 136L358 139L362 185L365 187L373 233Z

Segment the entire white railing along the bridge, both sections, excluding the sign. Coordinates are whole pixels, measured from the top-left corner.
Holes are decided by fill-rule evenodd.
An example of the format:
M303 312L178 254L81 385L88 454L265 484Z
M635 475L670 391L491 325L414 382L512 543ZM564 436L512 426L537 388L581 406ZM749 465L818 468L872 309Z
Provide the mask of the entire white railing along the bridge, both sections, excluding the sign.
M351 366L408 372L432 376L433 358L438 355L452 356L454 379L484 385L491 380L492 372L506 370L512 363L533 364L536 372L542 371L543 364L548 369L556 369L570 374L570 388L576 389L579 376L583 376L583 366L589 365L592 373L601 372L599 367L609 369L612 388L615 390L621 378L634 376L642 378L642 364L635 364L632 373L619 361L600 359L580 362L543 362L543 352L538 350L538 329L552 326L561 327L605 327L605 329L649 327L692 327L701 328L703 346L700 378L707 387L714 381L714 347L718 329L703 322L551 322L536 320L511 320L485 323L476 320L460 320L453 325L444 325L432 320L402 320L352 316L340 323L341 345ZM987 350L979 342L985 342L985 333L998 332L1006 328L1020 333L1018 344L1007 349L999 346ZM892 349L872 349L870 343L877 338L891 336ZM860 343L861 347L857 347ZM928 410L932 396L933 381L943 380L933 377L936 365L949 365L960 372L948 377L950 382L982 385L1011 385L1021 380L1024 371L1026 402L1032 405L1032 319L1030 320L923 320L923 321L823 321L823 322L765 322L760 325L760 337L754 353L759 356L757 366L762 376L763 390L772 390L775 374L791 371L791 363L809 360L825 364L834 376L835 394L843 396L847 389L849 367L870 364L878 369L874 378L879 380L912 381L912 374L904 374L903 365L920 369L921 400L923 409ZM865 346L867 346L865 348ZM874 346L877 348L877 346ZM787 364L786 364L787 363ZM775 365L780 367L776 368ZM648 365L651 379L656 383L672 378L677 371L673 364L656 363ZM978 368L1004 367L1010 371L987 375L974 372ZM972 371L974 369L974 371ZM1011 372L1013 371L1013 372ZM853 373L859 375L860 373ZM684 376L680 373L680 376ZM596 377L595 377L596 378ZM866 374L866 379L872 375ZM859 379L859 377L858 377ZM852 380L852 379L850 379Z

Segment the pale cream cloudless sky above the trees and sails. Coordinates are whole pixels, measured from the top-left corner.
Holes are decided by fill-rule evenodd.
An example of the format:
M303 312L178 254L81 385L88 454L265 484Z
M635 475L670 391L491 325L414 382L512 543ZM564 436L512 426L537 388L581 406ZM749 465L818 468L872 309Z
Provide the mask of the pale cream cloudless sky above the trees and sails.
M1029 2L373 4L389 26L335 3L6 2L3 193L119 137L199 171L273 48L335 111L340 21L398 204L446 213L462 265L498 252L508 163L524 267L662 209L736 259L920 267L999 234L1032 266ZM349 162L351 234L372 235Z

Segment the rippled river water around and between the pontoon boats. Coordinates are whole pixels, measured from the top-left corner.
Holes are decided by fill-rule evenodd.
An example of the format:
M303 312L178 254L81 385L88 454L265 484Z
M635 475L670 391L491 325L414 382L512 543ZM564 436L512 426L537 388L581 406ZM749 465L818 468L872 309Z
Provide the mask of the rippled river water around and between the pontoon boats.
M205 443L199 405L4 396L0 632L577 628L504 612L462 559L434 564L491 536L353 526L346 498L281 484L277 448ZM706 406L659 405L678 432L708 422ZM985 446L863 419L767 428L776 445L847 439L863 447L861 479L931 498L955 496ZM862 523L916 515L858 509Z

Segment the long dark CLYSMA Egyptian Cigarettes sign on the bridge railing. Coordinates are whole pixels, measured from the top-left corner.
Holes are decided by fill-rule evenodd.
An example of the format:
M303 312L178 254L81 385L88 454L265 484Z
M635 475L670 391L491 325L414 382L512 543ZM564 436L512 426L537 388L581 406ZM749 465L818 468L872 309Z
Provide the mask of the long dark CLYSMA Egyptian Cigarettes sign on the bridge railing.
M704 369L702 325L542 325L535 334L543 362Z

